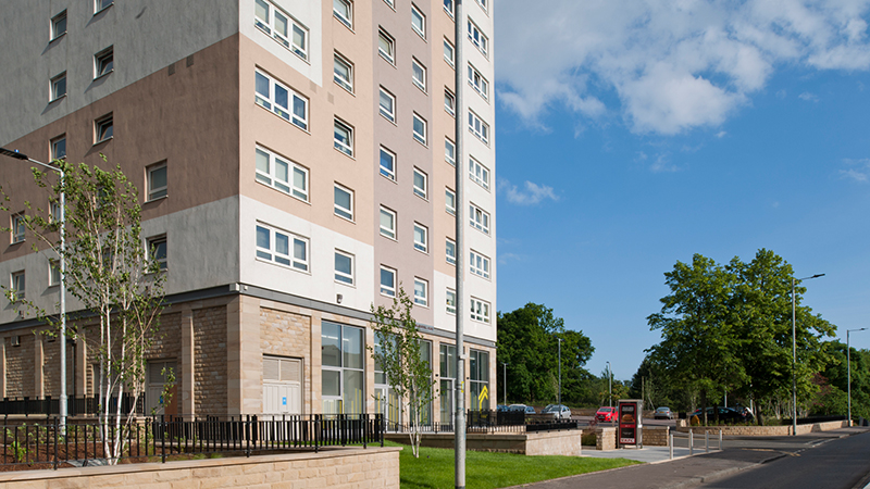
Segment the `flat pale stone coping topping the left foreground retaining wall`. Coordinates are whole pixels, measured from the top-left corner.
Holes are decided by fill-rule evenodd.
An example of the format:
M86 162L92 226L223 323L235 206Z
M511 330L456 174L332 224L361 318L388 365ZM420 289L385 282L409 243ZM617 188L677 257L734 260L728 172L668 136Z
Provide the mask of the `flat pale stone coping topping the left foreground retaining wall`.
M320 452L283 453L275 455L227 456L223 459L185 460L174 462L151 462L146 464L120 464L98 467L60 468L58 471L15 471L0 472L0 484L25 482L44 479L69 479L101 475L139 474L149 472L185 471L190 468L211 468L233 465L253 465L275 462L298 462L306 460L339 459L345 456L373 455L400 452L401 447L372 448L322 448Z

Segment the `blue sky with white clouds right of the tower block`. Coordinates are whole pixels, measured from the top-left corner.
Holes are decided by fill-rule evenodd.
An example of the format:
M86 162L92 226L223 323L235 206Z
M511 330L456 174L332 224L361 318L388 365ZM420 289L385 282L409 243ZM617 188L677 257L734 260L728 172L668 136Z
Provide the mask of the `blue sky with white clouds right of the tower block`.
M870 1L496 3L498 309L630 378L664 272L759 248L870 326ZM852 337L870 348L870 330Z

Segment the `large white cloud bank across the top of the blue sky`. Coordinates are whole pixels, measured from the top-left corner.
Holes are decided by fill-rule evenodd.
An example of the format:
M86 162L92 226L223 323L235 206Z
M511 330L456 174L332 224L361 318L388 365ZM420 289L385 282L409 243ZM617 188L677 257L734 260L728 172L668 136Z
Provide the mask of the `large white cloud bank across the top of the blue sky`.
M781 65L870 68L870 0L500 0L499 97L530 126L567 106L636 133L718 127ZM616 98L613 97L616 95ZM784 97L780 92L778 97Z

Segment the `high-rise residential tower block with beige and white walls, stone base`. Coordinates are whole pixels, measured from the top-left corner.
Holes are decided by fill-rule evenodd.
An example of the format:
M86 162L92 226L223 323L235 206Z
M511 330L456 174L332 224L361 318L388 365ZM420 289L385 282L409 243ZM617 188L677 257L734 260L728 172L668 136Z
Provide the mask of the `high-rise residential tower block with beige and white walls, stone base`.
M167 413L395 418L366 347L372 304L402 287L439 391L427 418L449 422L462 380L457 253L468 264L467 405L495 404L493 7L463 3L458 65L452 0L3 5L0 146L44 162L102 153L138 187L142 246L160 254L170 304L147 393L173 368ZM45 195L28 166L0 158L12 198L1 218L13 228L0 280L54 310L51 256L16 226L25 200ZM33 334L42 327L3 300L2 397L59 396L61 346ZM66 348L69 394L92 394L91 343Z

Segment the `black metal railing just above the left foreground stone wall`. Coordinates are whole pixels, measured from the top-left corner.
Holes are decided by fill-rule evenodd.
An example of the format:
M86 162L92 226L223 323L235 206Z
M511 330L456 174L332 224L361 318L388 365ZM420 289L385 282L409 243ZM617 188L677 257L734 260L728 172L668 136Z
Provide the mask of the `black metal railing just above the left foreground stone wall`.
M121 423L123 427L123 423ZM380 414L307 416L147 416L128 428L60 418L2 426L2 465L32 468L103 465L113 459L160 460L181 454L253 453L322 447L384 446Z

